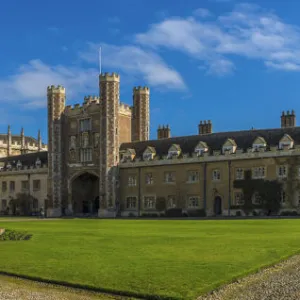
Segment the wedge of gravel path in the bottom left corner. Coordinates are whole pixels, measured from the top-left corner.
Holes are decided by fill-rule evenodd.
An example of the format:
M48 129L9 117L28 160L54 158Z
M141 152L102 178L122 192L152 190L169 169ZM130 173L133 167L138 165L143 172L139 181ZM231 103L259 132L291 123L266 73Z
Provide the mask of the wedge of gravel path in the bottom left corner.
M0 300L129 300L105 294L0 276Z

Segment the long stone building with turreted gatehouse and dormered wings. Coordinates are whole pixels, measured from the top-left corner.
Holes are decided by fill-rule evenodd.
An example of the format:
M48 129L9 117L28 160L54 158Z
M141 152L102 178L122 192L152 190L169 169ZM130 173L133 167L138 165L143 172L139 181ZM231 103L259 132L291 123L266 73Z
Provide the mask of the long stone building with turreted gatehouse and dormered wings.
M50 217L171 208L234 215L244 203L236 182L250 170L252 180L282 183L281 209L298 210L300 127L294 111L282 114L281 128L213 133L209 120L200 122L196 135L172 138L167 125L149 140L149 88L133 88L132 106L120 102L118 74L101 74L99 89L99 97L71 107L62 86L47 88L48 150L0 159L2 208L9 207L8 186L15 181L12 194L27 191ZM260 196L252 196L259 210Z

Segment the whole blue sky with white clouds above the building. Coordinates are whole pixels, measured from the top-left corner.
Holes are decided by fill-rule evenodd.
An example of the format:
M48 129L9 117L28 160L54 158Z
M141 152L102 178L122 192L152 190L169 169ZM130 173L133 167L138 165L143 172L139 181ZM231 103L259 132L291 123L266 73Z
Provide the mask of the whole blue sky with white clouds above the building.
M151 89L151 137L280 126L300 113L300 2L10 0L0 6L0 132L47 138L46 87L67 103L97 95L102 70L121 74L121 101Z

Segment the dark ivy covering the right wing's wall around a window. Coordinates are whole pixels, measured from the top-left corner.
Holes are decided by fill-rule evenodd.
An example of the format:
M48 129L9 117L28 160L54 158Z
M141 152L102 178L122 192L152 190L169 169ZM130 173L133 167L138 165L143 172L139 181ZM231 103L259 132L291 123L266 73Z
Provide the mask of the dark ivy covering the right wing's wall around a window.
M233 187L241 189L244 195L244 205L241 206L244 212L250 213L255 208L278 212L280 209L280 198L282 183L277 180L252 179L251 170L245 171L244 180L235 180ZM252 203L254 193L258 193L261 205Z

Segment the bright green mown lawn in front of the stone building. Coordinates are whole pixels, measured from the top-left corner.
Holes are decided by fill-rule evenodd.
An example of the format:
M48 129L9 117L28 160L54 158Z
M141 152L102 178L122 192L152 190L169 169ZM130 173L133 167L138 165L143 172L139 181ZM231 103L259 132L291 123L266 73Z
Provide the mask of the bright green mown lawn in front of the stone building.
M8 220L33 237L0 242L0 271L174 299L300 250L300 220Z

